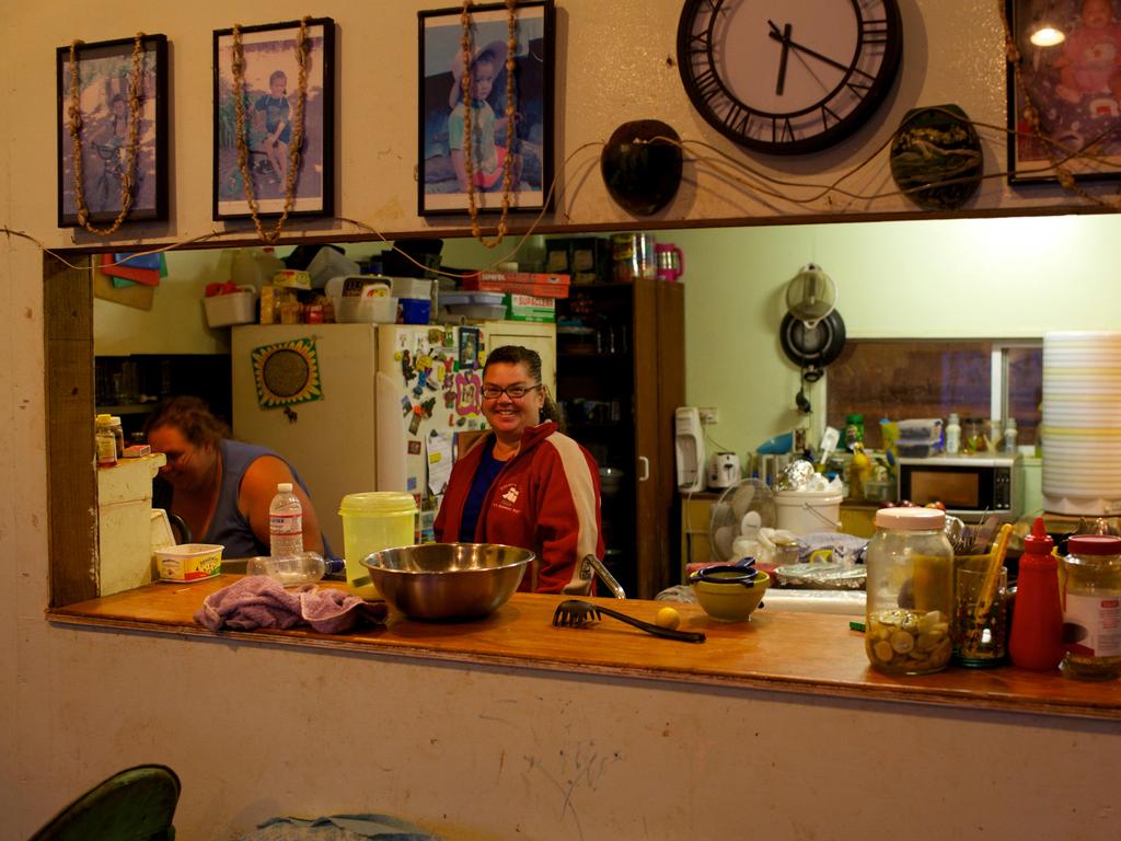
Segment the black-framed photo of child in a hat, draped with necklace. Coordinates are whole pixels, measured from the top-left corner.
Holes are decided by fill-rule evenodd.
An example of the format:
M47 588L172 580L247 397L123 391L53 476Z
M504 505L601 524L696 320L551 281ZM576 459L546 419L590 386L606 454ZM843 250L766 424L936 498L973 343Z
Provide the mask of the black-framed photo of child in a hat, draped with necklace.
M461 10L421 11L418 104L418 212L466 213L464 123L471 120L471 163L480 213L502 210L504 161L510 161L510 210L541 211L553 183L553 0L519 2L512 80L513 141L507 148L508 11L472 6L472 105L464 108Z

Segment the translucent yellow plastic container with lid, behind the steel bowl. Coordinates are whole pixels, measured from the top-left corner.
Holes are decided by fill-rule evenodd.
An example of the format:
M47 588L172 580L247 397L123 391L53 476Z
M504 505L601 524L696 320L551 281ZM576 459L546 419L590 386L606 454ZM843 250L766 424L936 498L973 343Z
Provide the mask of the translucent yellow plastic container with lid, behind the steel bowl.
M372 552L416 543L417 503L411 493L348 493L339 506L343 518L346 583L362 599L380 599L362 558Z

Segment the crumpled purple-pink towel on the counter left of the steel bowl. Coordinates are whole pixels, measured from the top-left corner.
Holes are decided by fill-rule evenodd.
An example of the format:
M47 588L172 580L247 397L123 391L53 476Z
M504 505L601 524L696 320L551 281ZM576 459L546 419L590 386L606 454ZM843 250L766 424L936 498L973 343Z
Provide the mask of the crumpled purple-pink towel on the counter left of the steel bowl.
M268 575L248 575L207 595L195 621L212 631L309 625L318 634L346 634L385 623L388 612L385 602L367 602L342 590L302 584L288 591Z

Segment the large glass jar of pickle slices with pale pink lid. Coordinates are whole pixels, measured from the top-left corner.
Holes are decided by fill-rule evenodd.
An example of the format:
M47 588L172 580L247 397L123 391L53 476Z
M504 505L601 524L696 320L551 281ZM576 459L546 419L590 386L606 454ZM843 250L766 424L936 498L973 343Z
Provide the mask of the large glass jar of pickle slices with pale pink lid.
M949 663L954 549L937 508L881 508L868 544L864 650L887 674L921 675Z

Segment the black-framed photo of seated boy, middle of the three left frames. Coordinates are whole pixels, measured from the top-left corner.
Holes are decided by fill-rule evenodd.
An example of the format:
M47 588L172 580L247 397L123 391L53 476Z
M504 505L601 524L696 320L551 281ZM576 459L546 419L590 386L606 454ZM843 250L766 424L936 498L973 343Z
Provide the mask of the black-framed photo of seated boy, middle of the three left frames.
M307 91L304 142L299 150L290 215L334 212L335 22L315 18L307 26ZM299 100L299 21L241 28L242 135L258 215L284 212L293 122ZM245 182L238 163L233 30L214 33L214 219L250 216Z

